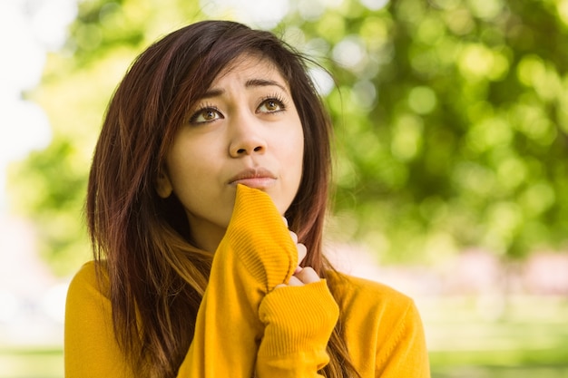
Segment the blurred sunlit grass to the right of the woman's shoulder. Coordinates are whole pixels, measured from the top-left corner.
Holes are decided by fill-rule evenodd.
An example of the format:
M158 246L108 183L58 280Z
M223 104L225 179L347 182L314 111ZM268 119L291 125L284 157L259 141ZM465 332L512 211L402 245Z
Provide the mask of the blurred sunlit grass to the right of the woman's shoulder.
M418 303L433 378L568 376L568 299L455 297Z

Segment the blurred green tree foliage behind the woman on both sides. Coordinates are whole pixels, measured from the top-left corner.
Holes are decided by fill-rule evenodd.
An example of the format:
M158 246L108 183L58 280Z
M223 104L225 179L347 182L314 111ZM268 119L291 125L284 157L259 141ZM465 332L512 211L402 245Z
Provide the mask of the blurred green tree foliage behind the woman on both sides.
M197 3L82 1L30 93L54 142L13 167L11 189L58 271L88 253L85 179L113 88L146 45L207 18ZM288 5L274 30L338 82L325 93L338 150L330 238L420 263L465 247L566 249L568 1Z

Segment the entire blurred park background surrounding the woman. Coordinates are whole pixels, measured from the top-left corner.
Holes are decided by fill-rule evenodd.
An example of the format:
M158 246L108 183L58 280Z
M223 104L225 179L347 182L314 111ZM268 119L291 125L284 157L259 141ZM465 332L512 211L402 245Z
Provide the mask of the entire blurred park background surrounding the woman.
M433 377L568 376L568 0L3 0L0 378L63 377L106 103L209 18L331 74L329 257L416 299Z

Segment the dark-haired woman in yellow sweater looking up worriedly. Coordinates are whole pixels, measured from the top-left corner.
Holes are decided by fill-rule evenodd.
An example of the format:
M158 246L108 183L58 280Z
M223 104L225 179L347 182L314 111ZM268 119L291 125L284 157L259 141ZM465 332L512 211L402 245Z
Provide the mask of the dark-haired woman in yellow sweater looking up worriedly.
M330 132L269 32L206 21L142 53L94 152L66 376L429 376L412 300L322 255Z

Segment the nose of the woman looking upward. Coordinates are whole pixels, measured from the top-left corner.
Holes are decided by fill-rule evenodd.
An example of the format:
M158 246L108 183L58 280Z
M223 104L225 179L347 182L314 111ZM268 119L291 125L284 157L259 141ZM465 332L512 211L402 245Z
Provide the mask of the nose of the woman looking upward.
M267 143L261 135L262 125L254 117L240 117L231 124L232 138L229 153L232 158L252 154L262 154L267 149Z

